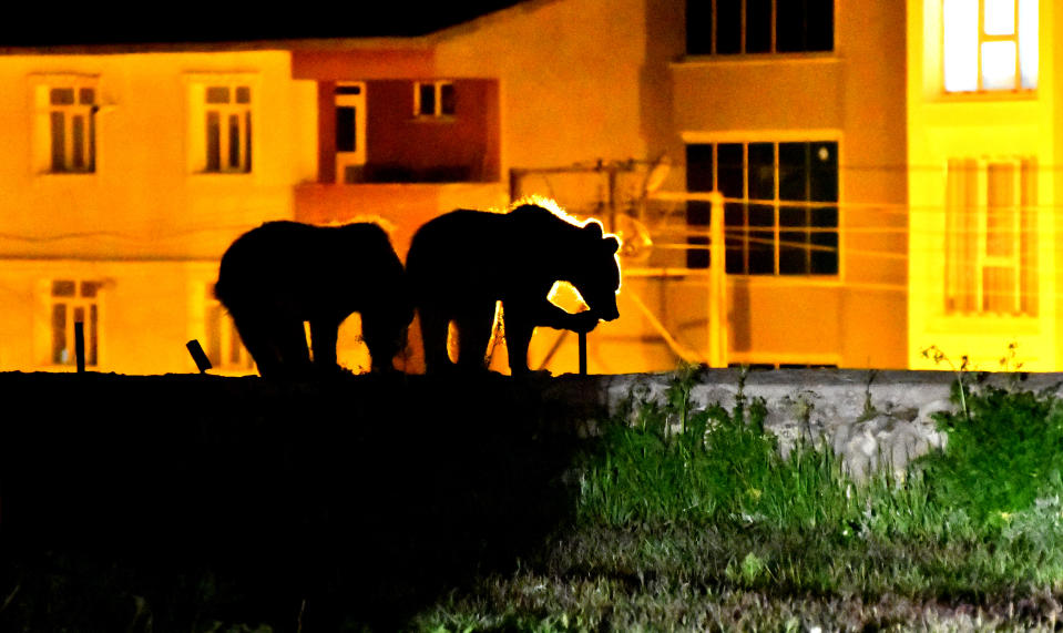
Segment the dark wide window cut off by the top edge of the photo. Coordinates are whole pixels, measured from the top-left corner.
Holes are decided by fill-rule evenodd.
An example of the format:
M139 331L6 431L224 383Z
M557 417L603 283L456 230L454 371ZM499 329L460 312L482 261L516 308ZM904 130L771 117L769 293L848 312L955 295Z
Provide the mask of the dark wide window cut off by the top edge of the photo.
M834 0L687 0L692 55L834 50Z

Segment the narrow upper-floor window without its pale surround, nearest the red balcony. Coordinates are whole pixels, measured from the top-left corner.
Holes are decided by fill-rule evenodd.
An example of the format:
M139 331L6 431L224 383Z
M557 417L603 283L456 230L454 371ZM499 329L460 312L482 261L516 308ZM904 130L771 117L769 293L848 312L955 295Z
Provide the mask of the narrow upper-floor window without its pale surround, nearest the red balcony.
M207 85L204 92L207 173L251 172L251 86Z

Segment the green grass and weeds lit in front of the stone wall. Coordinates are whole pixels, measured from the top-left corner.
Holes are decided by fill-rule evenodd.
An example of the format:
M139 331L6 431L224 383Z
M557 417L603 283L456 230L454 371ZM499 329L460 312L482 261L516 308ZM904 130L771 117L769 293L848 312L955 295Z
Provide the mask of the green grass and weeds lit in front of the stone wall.
M763 407L633 402L582 456L575 525L510 576L421 615L466 630L1054 630L1063 410L964 389L949 450L857 486L829 450L787 459ZM959 394L957 394L959 399ZM622 419L628 418L628 415Z

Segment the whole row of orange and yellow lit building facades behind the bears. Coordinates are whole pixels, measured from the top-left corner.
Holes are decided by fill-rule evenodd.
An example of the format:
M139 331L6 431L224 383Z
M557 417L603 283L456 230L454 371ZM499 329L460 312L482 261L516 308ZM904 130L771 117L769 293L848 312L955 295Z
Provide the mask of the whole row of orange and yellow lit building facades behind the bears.
M242 232L375 218L405 256L440 213L530 194L625 239L592 372L985 365L1014 337L1055 368L1056 17L1009 3L1022 34L978 25L994 0L529 0L418 38L6 50L0 368L69 370L82 320L93 369L192 371L195 338L247 372L209 293ZM972 6L989 83L978 61L946 85ZM1029 75L1031 10L1038 80L1001 88L1008 45ZM979 203L990 172L1010 215ZM1038 245L993 242L1005 221ZM530 356L574 371L575 337ZM357 317L339 358L367 366Z

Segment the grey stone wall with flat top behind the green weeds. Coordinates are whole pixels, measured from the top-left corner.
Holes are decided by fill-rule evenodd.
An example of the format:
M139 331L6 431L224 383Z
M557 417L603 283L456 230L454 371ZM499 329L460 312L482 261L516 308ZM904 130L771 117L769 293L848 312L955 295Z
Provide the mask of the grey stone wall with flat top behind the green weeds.
M664 405L676 375L562 376L550 389L569 402L583 400L580 432L597 432L596 408L610 416L627 415L631 404ZM910 459L942 449L948 437L937 430L933 414L953 411L953 371L876 371L844 369L753 370L702 369L694 376L695 408L718 404L733 410L742 385L746 404L767 407L765 428L779 438L784 455L798 438L825 441L842 458L855 479L879 467L902 473ZM1061 392L1063 374L964 375L972 389L984 385L1020 390ZM589 405L596 407L587 407Z

